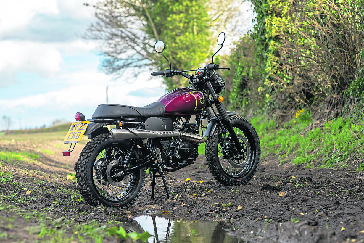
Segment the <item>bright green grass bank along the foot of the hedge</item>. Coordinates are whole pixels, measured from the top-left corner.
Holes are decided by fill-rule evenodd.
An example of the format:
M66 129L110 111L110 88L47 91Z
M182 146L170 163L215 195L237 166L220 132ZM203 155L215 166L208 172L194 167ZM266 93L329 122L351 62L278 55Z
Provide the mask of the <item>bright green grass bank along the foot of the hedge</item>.
M364 154L363 120L353 123L340 117L316 128L309 117L284 124L259 118L251 122L260 137L262 157L277 156L282 163L318 168L344 167ZM362 171L364 164L354 169Z

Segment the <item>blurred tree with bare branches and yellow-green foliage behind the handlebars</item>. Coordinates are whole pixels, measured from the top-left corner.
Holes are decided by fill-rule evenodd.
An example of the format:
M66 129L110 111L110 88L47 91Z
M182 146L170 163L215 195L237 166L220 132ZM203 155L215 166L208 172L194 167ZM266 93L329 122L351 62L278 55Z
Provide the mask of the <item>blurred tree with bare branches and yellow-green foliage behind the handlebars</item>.
M233 3L237 0L104 0L93 6L98 22L85 37L104 41L102 69L107 74L120 74L126 68L136 68L136 74L141 68L168 68L154 51L156 40L166 43L163 54L173 69L197 68L211 55L217 36L213 27L222 29L235 15ZM187 83L185 78L174 78L165 79L169 89Z

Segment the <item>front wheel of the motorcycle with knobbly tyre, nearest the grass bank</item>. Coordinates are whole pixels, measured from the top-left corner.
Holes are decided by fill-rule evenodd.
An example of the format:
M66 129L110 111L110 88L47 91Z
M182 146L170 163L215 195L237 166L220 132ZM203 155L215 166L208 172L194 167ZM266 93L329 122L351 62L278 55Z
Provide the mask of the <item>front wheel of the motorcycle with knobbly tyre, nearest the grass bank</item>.
M220 126L206 140L206 162L213 177L223 185L241 185L253 178L260 162L260 141L253 125L244 117L234 115L230 123L244 148L237 153L229 132Z

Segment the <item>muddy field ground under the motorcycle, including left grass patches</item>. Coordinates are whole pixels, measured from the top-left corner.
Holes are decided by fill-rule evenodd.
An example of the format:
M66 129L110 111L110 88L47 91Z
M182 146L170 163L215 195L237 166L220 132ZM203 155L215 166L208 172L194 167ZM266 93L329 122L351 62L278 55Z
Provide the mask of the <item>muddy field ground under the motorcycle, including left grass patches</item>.
M66 132L0 136L1 242L120 242L107 229L141 213L221 221L229 234L249 242L363 242L364 173L349 167L311 169L263 157L248 184L224 187L200 155L195 164L166 173L150 201L151 178L137 202L117 210L85 204L76 189L74 164L86 144L70 157ZM132 230L126 227L127 232Z

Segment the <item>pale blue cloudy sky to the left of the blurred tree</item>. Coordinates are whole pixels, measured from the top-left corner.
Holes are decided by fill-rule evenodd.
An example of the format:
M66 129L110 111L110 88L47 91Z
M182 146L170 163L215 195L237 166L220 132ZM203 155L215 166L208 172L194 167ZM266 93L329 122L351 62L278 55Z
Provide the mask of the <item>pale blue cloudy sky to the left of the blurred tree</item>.
M131 106L166 93L162 78L150 72L115 78L99 70L101 43L82 38L96 21L84 2L0 0L0 130L4 116L11 119L10 129L74 122L76 112L90 119L106 103L106 87L108 103Z

